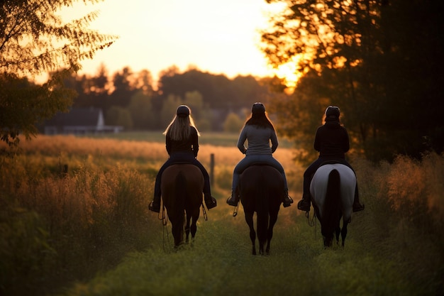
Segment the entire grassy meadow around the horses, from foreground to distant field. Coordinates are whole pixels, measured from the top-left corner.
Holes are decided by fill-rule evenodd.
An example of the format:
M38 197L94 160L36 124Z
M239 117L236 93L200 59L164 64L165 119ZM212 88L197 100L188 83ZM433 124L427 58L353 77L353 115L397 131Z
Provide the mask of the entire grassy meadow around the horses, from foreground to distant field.
M345 248L325 250L313 211L307 219L294 204L279 212L271 255L252 256L242 207L233 217L225 203L243 157L237 135L202 134L218 207L179 250L148 211L163 137L120 136L38 136L0 155L0 295L444 294L443 155L353 155L366 209ZM293 156L286 145L274 155L297 202L304 168Z

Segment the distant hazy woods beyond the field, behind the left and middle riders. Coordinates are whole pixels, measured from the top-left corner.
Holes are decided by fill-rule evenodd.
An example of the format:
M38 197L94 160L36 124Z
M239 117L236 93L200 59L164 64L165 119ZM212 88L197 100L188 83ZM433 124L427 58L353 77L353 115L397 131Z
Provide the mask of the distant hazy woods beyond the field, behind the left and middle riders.
M196 68L180 72L172 66L160 73L155 88L149 70L123 67L109 75L101 65L96 75L72 74L65 86L77 93L73 108L102 109L107 125L126 130L163 129L177 106L187 104L199 129L240 131L252 104L270 97L267 81L250 75L229 79Z

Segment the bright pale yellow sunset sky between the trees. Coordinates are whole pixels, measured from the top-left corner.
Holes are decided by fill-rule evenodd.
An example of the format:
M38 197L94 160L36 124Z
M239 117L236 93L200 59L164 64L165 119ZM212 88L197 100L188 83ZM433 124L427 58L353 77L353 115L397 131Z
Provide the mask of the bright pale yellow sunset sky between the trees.
M265 0L105 0L85 6L82 1L63 11L64 19L99 10L91 28L120 38L82 62L81 74L96 74L101 63L109 73L125 66L134 72L160 71L176 65L212 74L266 76L267 67L258 45L258 29L267 26Z

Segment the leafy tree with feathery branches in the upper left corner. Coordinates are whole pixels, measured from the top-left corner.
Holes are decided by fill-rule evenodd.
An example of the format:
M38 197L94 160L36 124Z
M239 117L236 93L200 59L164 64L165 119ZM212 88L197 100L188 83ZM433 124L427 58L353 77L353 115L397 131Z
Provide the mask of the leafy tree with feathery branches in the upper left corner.
M109 47L116 36L88 28L97 17L89 13L63 23L57 11L76 0L6 0L0 4L0 135L9 145L18 134L35 135L35 125L67 111L74 92L62 77L79 70L79 62ZM84 3L96 0L84 0ZM52 72L47 83L26 83L26 77ZM30 116L32 114L32 116Z

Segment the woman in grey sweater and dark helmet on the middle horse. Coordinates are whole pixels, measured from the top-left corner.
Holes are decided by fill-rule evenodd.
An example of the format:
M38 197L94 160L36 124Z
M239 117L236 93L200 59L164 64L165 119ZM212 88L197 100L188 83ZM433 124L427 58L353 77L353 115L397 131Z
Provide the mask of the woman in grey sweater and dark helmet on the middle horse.
M248 148L244 143L248 141ZM270 147L270 141L272 146ZM237 191L240 174L248 168L252 163L266 163L272 165L279 170L284 178L284 207L289 207L293 203L292 197L288 195L287 178L285 177L284 168L273 158L272 153L278 145L276 131L274 126L265 112L265 106L262 103L252 105L250 118L245 121L245 125L240 132L238 139L238 148L241 153L245 154L245 158L235 166L233 172L233 185L231 187L231 197L228 197L227 204L237 206L239 202L239 194Z

